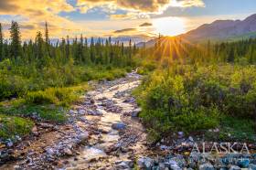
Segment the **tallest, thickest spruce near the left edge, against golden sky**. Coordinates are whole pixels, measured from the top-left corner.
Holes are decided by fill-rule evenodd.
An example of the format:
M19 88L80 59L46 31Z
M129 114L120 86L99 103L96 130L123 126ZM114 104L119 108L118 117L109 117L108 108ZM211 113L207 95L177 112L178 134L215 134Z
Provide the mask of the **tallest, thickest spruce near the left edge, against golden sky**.
M12 58L21 57L21 36L18 24L12 21L12 26L10 28L11 37L11 47L10 54Z

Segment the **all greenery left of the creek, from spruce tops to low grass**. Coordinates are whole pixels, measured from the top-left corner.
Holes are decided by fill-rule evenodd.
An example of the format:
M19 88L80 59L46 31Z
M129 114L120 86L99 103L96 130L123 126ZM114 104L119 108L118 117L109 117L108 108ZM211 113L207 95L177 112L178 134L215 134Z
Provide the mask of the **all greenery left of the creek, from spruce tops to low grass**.
M0 24L1 115L33 117L36 113L44 121L65 122L70 104L79 92L89 89L84 82L123 77L135 64L132 57L137 48L131 41L125 47L111 37L88 40L80 35L80 39L67 36L50 42L49 34L46 23L44 37L37 32L35 41L22 42L19 26L12 22L6 40Z

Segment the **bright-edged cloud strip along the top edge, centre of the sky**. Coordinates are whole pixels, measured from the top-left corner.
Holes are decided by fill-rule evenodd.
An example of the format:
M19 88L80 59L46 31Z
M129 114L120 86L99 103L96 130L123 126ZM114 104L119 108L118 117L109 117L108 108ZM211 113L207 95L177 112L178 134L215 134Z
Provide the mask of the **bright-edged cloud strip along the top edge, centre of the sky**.
M168 6L204 6L202 0L78 0L77 6L80 12L86 13L93 7L107 5L110 8L122 8L123 10L159 14L163 13Z

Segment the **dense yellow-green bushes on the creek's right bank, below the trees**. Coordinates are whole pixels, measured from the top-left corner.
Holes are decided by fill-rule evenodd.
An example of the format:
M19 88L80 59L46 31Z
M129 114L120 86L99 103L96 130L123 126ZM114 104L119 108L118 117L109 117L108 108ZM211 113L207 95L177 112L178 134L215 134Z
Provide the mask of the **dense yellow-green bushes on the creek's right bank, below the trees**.
M253 120L255 84L254 66L174 65L155 70L134 94L150 132L191 133L222 126L224 115Z

